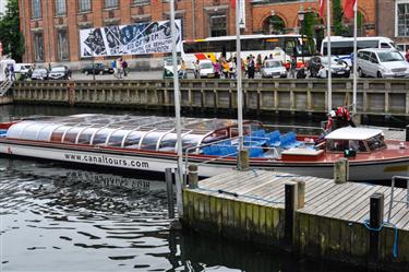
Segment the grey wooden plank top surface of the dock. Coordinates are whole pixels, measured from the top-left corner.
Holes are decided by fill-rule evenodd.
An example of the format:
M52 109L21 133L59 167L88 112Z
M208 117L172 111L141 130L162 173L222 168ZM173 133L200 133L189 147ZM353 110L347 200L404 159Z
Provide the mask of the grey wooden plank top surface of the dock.
M335 184L332 179L301 177L282 173L264 170L229 172L200 182L197 193L217 198L234 199L252 204L284 208L285 184L291 180L305 181L305 206L300 213L363 223L370 216L370 197L375 192L385 196L384 218L389 209L390 187L369 184ZM229 193L218 193L222 190ZM232 194L239 196L238 198ZM390 223L399 229L409 230L409 209L405 203L407 190L395 188L395 200Z

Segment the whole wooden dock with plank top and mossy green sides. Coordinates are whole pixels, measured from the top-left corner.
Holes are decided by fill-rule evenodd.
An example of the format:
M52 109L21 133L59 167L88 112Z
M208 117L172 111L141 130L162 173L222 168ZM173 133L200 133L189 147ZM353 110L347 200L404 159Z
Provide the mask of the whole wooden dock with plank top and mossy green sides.
M303 197L302 192L296 197L293 217L286 203L286 185L304 190ZM370 220L370 199L372 204L371 197L378 196L375 193L384 197L377 202L383 213L378 220L386 221L390 192L390 187L335 184L275 172L230 172L200 181L197 189L183 190L183 223L200 232L277 246L302 256L409 271L409 209L398 202L406 200L407 190L394 192L390 223L398 234L396 257L395 228L387 225L375 232L364 225Z

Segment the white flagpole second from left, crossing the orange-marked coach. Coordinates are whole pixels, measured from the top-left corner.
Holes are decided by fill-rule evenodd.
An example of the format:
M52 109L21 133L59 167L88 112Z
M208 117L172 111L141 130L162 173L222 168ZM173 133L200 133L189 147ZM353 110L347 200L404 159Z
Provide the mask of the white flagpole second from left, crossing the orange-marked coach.
M241 44L240 44L240 0L236 0L236 72L237 72L237 117L239 127L239 150L243 149L243 93L241 76Z

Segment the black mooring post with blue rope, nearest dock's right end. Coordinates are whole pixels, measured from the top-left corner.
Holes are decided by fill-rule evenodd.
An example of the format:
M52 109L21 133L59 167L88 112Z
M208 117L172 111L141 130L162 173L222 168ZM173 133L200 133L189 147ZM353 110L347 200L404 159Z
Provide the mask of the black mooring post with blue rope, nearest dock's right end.
M375 265L380 256L380 228L384 222L384 194L374 193L370 200L370 249L369 263Z

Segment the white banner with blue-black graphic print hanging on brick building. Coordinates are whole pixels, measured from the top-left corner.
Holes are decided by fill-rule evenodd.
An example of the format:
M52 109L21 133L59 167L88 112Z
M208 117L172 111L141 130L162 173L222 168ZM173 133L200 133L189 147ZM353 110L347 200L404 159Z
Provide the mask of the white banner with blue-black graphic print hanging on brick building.
M181 50L181 21L175 21L177 50ZM80 31L81 57L171 52L170 21L110 25Z

